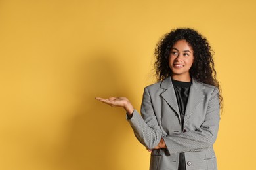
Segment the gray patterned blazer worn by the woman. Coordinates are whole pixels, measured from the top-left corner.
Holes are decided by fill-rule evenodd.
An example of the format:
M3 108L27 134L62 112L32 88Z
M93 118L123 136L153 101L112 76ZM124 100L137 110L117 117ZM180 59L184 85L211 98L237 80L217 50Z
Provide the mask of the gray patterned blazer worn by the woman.
M144 88L141 116L134 110L127 119L135 136L146 148L163 138L167 149L153 150L150 170L178 169L184 152L186 169L217 169L213 143L219 129L219 91L192 79L181 131L181 117L171 78Z

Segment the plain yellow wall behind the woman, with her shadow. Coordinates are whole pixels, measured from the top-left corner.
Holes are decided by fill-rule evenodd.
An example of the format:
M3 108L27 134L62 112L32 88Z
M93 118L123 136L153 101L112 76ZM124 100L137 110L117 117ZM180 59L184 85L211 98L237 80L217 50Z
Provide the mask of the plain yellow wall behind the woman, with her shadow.
M192 27L215 51L219 169L256 169L255 1L0 1L0 169L148 169L122 109L140 109L156 42Z

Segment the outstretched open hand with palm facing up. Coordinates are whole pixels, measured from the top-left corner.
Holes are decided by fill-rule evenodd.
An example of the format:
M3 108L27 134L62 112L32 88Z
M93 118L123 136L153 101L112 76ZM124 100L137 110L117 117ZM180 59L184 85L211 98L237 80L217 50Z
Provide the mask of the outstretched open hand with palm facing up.
M95 99L112 107L123 107L128 114L132 114L134 110L133 105L126 97L110 97L108 99L95 97Z

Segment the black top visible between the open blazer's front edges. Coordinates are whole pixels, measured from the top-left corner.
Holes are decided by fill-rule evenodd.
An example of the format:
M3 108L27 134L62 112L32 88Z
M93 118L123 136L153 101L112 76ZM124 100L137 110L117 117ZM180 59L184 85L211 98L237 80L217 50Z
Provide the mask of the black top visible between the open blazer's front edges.
M184 116L186 111L186 104L188 103L188 94L190 90L191 82L181 82L177 80L171 80L179 106L179 114L181 115L181 130L184 130ZM186 170L186 160L184 153L180 153L179 156L179 169Z

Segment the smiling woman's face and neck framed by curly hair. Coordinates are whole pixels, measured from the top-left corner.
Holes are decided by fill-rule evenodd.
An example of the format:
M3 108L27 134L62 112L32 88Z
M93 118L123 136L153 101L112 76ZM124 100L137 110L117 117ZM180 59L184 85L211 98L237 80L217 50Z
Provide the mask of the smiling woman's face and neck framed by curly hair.
M184 39L177 41L171 48L169 56L169 67L172 71L171 78L189 82L189 70L193 61L194 55L192 47Z

